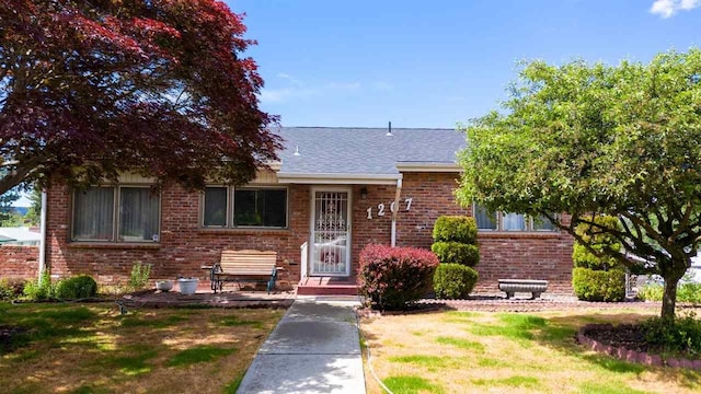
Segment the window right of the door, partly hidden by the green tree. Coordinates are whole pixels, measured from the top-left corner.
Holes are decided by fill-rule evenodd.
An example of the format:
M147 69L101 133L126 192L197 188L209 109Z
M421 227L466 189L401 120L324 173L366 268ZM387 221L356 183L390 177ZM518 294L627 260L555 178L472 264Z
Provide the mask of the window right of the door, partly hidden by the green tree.
M473 205L472 212L480 231L558 231L544 216L532 218L521 213L490 211L476 204Z

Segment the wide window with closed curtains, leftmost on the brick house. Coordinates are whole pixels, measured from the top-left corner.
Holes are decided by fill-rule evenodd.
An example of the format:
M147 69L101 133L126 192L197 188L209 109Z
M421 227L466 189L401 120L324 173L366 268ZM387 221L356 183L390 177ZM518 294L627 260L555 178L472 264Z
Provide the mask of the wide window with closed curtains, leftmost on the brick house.
M90 187L73 194L72 241L159 242L160 196L145 186Z

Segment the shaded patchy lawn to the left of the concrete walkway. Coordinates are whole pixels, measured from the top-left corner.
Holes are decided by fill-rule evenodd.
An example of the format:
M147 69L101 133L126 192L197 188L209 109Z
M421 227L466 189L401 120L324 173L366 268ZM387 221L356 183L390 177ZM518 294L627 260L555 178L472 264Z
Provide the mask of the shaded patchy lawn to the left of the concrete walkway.
M233 393L283 313L0 303L0 391Z

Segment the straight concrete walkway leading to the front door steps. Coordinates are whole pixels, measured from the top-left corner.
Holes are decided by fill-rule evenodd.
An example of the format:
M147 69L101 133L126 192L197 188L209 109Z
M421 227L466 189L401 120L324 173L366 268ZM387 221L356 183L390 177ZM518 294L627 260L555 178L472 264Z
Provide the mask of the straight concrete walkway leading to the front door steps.
M365 393L356 305L297 299L237 393Z

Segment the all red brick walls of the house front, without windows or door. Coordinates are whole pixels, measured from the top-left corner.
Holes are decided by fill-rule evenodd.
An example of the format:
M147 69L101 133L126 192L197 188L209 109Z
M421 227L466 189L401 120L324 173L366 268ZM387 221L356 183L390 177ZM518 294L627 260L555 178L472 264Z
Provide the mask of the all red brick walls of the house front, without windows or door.
M397 223L397 244L429 247L433 223L441 215L470 215L455 204L456 174L405 173ZM200 198L179 186L161 194L161 234L158 244L92 244L69 242L71 196L57 187L48 196L47 262L51 274L91 274L101 282L125 281L136 262L152 264L151 278L179 275L205 278L200 269L219 259L221 250L254 248L278 253L278 265L292 280L300 277L300 245L309 240L310 185L288 186L288 229L223 230L199 227ZM366 189L366 198L361 190ZM391 202L394 185L352 187L352 275L357 257L367 243L391 241ZM412 198L406 210L406 199ZM378 205L386 207L378 216ZM368 219L371 208L372 219ZM551 291L571 293L572 240L560 233L480 234L482 258L478 270L478 291L497 291L498 278L532 278L551 281ZM0 248L1 250L1 248ZM0 255L2 258L2 255ZM0 269L4 269L1 268Z

